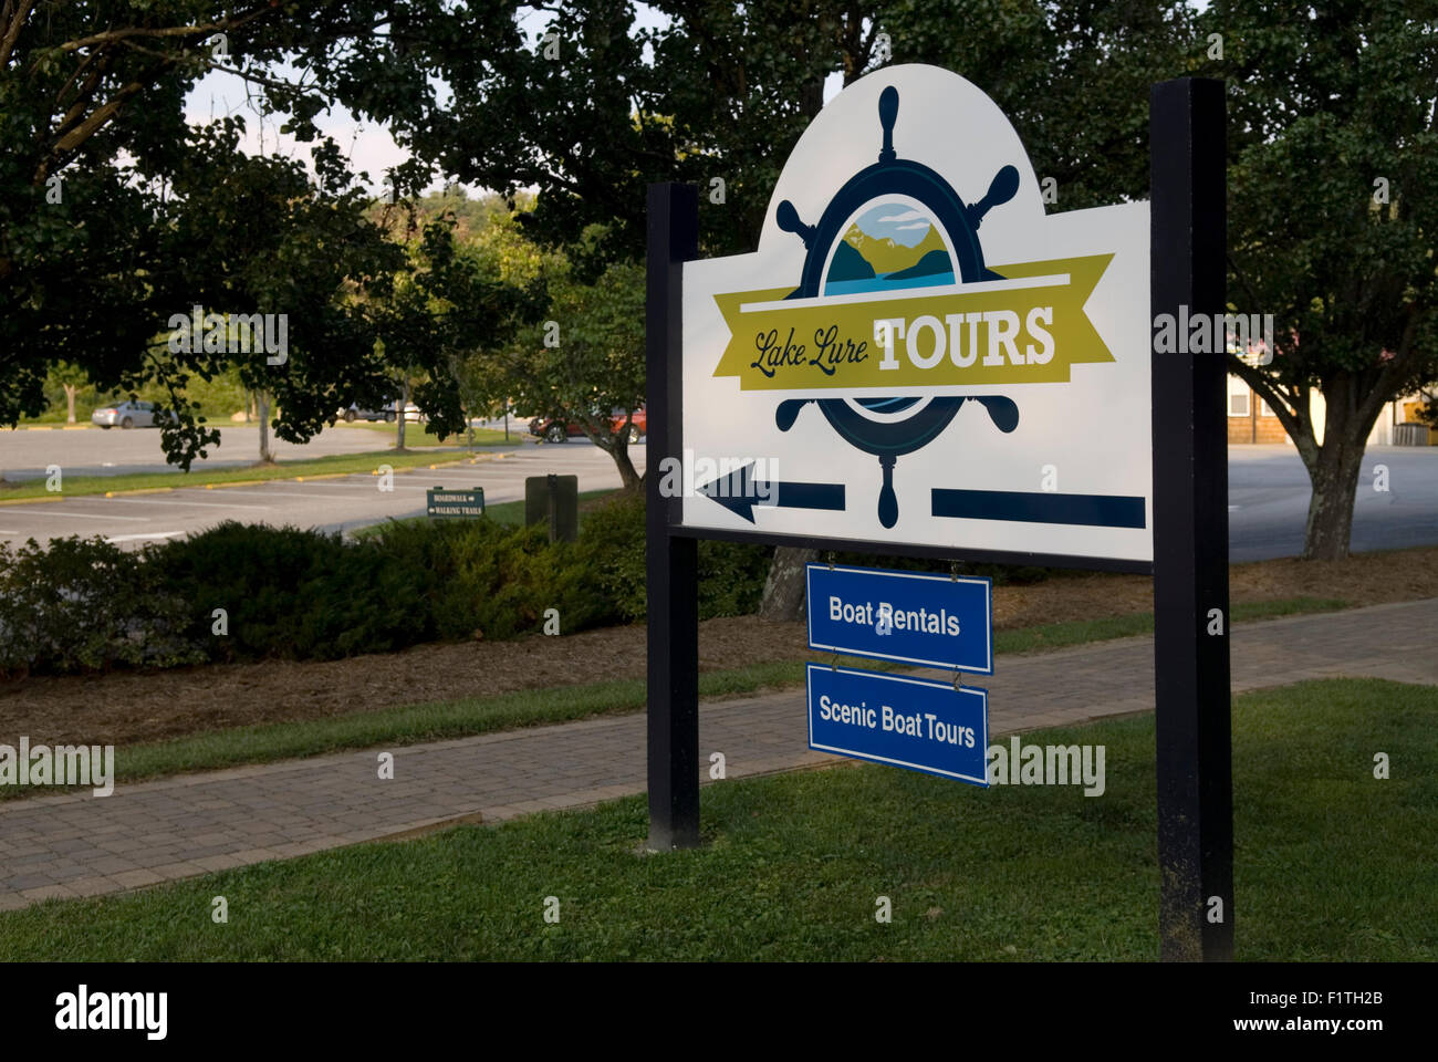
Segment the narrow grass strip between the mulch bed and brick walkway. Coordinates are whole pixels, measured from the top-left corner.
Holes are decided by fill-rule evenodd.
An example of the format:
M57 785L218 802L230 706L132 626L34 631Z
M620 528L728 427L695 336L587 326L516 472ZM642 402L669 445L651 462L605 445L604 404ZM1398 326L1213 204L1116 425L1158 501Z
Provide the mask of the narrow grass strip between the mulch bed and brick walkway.
M521 502L509 502L521 505ZM495 507L500 508L500 507ZM1287 616L1304 612L1329 612L1345 607L1345 602L1294 597L1235 606L1234 619L1255 620L1267 616ZM1038 627L998 630L994 633L997 656L1102 642L1113 637L1143 635L1153 630L1149 613L1089 620L1083 623L1048 623ZM817 658L821 655L817 655ZM823 659L828 659L824 656ZM886 661L840 656L840 665L870 671L896 671L902 665ZM979 679L978 684L982 684ZM703 698L739 696L761 689L782 689L804 685L804 663L800 661L771 661L742 668L710 671L699 676ZM624 715L643 711L646 684L643 679L592 682L552 689L523 689L498 696L469 696L453 701L433 701L398 705L368 712L334 715L301 722L272 722L259 727L217 730L191 737L115 750L115 776L121 783L220 770L252 763L293 760L322 755L349 748L374 745L410 745L421 741L444 741L473 734L489 734L519 727L552 722L572 722L595 715ZM0 803L22 800L35 790L20 786L0 786Z

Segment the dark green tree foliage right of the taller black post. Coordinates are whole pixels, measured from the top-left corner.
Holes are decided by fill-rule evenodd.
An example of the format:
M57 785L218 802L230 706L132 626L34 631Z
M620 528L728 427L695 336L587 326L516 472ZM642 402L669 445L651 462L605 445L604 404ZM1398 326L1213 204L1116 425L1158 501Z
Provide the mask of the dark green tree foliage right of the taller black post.
M1352 391L1355 440L1382 401L1438 378L1434 17L1250 0L1202 16L1225 32L1212 72L1232 86L1231 299L1276 314L1274 386Z

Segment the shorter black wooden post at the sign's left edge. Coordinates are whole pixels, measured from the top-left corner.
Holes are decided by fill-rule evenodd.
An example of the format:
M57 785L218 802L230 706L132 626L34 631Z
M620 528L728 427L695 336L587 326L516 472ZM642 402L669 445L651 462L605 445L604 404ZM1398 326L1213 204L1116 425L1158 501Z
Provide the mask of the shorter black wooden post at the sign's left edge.
M664 498L664 459L679 432L683 263L699 256L699 190L649 186L646 357L649 445L649 846L699 843L699 566L695 538L670 534L682 496ZM680 482L683 476L679 476Z

